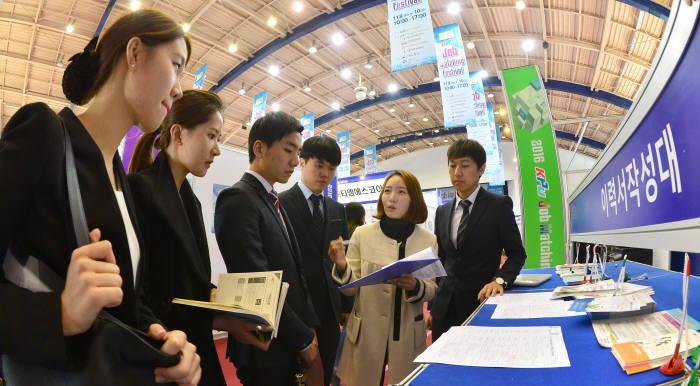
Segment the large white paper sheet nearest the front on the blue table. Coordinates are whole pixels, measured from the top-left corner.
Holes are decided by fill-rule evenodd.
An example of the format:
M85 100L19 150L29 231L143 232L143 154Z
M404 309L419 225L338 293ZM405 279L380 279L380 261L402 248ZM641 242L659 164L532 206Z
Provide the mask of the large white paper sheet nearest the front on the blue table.
M510 368L571 366L560 326L452 327L414 362Z

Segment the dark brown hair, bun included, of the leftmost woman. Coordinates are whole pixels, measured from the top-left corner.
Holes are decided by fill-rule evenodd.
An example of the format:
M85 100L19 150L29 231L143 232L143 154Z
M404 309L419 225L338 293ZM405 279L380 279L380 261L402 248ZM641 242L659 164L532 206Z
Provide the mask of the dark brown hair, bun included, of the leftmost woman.
M190 39L175 20L154 9L129 12L115 21L99 41L94 37L83 52L69 59L62 80L66 98L79 106L89 102L107 82L133 37L148 47L185 39L186 61L190 59Z

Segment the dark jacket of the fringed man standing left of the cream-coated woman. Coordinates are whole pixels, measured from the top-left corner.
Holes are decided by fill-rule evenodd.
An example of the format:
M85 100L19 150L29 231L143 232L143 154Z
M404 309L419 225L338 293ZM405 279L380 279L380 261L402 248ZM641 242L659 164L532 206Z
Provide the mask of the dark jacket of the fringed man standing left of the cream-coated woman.
M280 193L279 197L280 203L292 221L292 227L302 251L304 272L311 288L311 299L316 312L333 312L336 321L340 323L343 302L351 302L352 297L343 295L331 277L333 262L328 257L328 246L331 240L337 239L338 236L342 236L343 240L349 239L345 207L332 198L324 197L324 232L319 235L314 229L311 211L299 184L294 184L290 189ZM327 307L328 305L330 307ZM325 310L325 308L330 309Z

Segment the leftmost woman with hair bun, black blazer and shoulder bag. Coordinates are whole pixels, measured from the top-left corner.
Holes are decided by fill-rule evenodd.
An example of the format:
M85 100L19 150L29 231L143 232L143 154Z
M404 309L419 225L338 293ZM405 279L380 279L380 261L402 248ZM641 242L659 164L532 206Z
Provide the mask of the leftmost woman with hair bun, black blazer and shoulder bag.
M180 26L158 11L126 14L73 58L66 97L92 101L76 116L42 103L22 107L0 138L0 354L8 383L34 383L56 369L80 370L98 312L142 328L180 362L155 380L196 384L196 348L166 330L136 295L147 257L134 221L119 142L133 126L153 131L182 94L189 58ZM91 243L76 248L66 190L63 128L71 138ZM14 256L14 257L13 257ZM32 281L22 261L34 256L65 278L62 292ZM143 258L142 258L143 257ZM32 378L34 377L34 378ZM54 379L37 381L39 383Z

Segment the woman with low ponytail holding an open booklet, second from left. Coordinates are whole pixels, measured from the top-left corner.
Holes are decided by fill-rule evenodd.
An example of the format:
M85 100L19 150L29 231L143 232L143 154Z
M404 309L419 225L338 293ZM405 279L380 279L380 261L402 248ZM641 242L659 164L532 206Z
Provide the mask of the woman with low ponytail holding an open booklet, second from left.
M185 177L189 173L204 177L221 154L221 110L216 94L185 91L160 129L141 137L128 176L149 256L144 271L146 304L165 325L185 331L197 346L202 385L226 385L212 328L230 330L237 340L263 350L269 346L269 341L261 343L251 334L256 330L253 323L212 318L211 312L172 303L173 298L209 301L214 288L202 206ZM155 161L154 147L160 150Z

